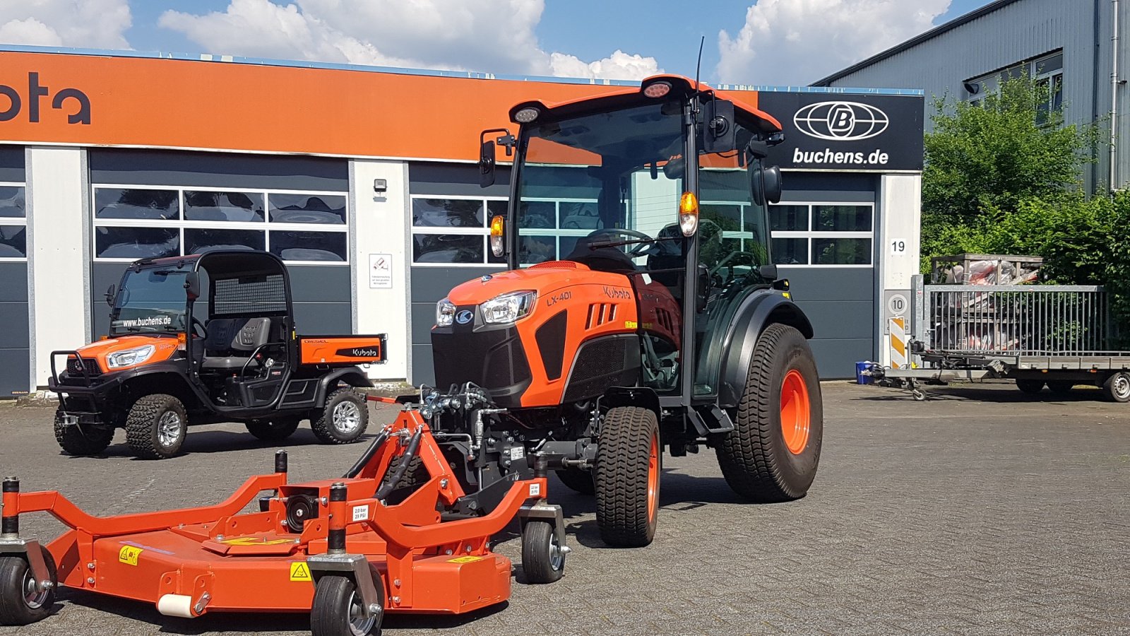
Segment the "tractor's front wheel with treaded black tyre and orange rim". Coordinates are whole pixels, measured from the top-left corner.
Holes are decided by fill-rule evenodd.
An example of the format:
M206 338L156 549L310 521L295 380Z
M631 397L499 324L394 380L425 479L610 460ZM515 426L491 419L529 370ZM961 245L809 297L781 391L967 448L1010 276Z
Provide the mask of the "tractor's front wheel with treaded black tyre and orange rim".
M597 526L609 545L642 548L659 519L659 422L642 406L608 410L600 426Z

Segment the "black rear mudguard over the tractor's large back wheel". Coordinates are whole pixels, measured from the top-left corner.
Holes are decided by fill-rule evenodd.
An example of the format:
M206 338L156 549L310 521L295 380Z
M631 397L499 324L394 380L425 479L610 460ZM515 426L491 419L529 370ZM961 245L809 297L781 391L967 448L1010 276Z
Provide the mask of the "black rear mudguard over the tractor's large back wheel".
M719 406L732 409L741 399L749 363L757 338L771 323L796 327L806 338L812 337L812 324L797 303L780 293L753 293L738 308L725 334L719 370Z

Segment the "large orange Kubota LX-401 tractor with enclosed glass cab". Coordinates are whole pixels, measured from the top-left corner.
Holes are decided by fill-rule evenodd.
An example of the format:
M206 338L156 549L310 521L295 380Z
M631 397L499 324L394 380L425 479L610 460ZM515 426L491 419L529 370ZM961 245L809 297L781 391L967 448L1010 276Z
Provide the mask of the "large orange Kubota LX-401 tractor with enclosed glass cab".
M516 155L489 239L510 270L436 307L436 384L452 388L425 398L433 426L486 439L483 480L541 454L596 493L612 545L652 541L664 448L714 448L748 499L803 497L823 411L812 327L770 258L780 123L676 76L510 118L516 136L479 139L484 186L497 145Z

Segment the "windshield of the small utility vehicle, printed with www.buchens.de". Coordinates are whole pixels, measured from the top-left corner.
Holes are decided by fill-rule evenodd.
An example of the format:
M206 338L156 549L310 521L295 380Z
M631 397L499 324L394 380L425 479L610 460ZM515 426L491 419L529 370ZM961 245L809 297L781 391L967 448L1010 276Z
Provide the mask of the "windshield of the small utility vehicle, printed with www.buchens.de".
M184 330L184 281L191 265L129 269L114 299L111 335Z

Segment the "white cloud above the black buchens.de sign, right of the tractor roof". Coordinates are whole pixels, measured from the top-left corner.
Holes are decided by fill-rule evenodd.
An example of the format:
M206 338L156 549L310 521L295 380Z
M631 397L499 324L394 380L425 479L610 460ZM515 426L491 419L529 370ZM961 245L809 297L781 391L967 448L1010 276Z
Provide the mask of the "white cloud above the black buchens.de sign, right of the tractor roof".
M758 0L719 33L727 84L805 85L933 26L950 0Z

